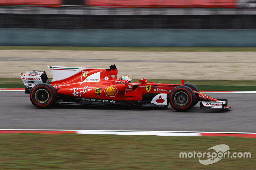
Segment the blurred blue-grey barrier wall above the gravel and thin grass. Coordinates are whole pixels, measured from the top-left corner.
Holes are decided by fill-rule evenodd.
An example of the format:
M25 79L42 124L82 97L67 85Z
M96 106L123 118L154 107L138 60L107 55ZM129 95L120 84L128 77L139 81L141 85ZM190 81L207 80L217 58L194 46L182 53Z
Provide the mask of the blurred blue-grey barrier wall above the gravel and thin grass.
M0 46L256 47L256 30L0 28Z

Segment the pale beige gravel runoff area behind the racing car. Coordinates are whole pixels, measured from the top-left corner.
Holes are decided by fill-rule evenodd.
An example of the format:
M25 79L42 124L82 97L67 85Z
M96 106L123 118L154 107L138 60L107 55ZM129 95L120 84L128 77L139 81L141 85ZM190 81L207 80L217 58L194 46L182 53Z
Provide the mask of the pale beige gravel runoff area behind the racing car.
M47 66L109 68L133 79L256 80L256 52L0 50L0 78Z

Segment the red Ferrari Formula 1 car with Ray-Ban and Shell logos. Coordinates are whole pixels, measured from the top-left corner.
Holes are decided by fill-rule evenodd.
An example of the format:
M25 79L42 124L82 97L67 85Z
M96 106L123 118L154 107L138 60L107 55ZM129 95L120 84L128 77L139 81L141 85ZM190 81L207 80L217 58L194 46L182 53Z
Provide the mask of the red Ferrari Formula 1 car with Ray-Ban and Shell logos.
M117 78L116 65L109 69L48 66L53 74L49 82L45 71L20 73L33 105L48 108L54 103L167 107L188 111L201 101L200 108L226 109L227 99L214 99L199 92L190 83L161 84L129 76Z

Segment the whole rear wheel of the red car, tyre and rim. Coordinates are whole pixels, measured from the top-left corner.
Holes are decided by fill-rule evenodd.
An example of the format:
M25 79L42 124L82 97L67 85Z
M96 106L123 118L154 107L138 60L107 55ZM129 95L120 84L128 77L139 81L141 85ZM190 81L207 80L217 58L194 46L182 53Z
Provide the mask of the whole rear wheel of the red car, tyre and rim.
M51 107L56 102L57 92L47 83L35 85L30 91L30 101L38 108Z

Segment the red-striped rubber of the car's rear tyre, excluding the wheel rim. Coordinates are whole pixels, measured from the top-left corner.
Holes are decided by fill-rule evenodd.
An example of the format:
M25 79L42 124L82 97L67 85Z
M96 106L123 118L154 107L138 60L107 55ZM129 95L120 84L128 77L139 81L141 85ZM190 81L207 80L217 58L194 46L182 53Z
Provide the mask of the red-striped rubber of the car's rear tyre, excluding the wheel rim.
M39 103L38 101L36 101L35 93L40 89L46 90L49 94L50 100L48 100L46 103ZM35 87L33 87L31 89L29 97L30 97L31 103L34 106L36 106L38 108L48 108L48 107L52 106L52 104L55 103L56 94L57 94L56 90L50 84L42 83L42 84L36 85Z

